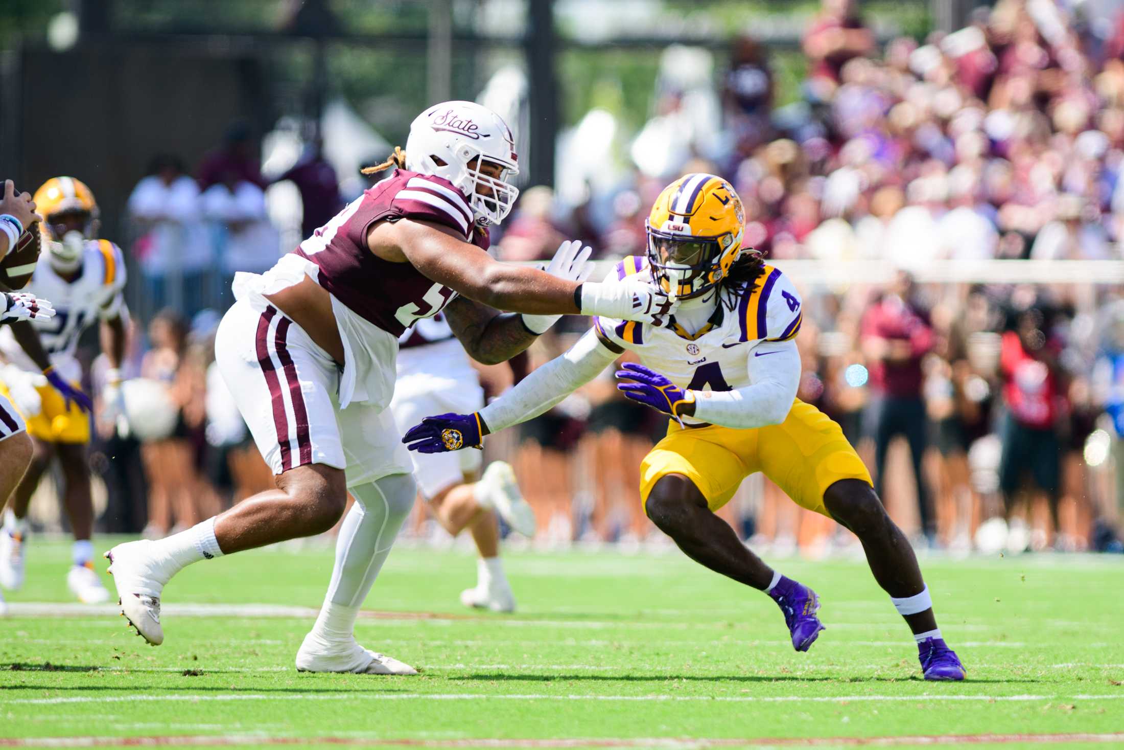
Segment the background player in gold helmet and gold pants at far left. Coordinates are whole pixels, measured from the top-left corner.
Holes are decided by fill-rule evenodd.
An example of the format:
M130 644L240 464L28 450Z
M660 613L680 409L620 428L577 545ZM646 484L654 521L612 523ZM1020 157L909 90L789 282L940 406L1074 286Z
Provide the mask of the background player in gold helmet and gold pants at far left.
M82 367L75 350L82 332L98 322L110 365L103 394L110 412L106 416L116 418L127 315L121 295L125 259L117 245L97 238L98 202L81 181L52 178L35 192L35 202L43 216L46 257L36 266L28 291L57 307L47 325L17 323L0 331L0 353L16 368L6 370L6 390L16 396L35 444L31 466L4 512L0 584L12 589L24 584L28 504L43 472L57 458L64 480L63 504L74 534L66 586L79 600L98 604L109 599L109 591L93 569L93 501L87 464L92 404L81 390Z

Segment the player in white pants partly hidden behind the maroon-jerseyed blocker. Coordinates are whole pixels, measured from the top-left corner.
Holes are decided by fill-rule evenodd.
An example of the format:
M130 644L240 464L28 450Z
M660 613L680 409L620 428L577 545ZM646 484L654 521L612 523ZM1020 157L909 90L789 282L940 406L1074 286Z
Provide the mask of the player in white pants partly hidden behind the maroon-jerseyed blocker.
M587 266L592 270L592 266ZM525 316L542 318L543 316ZM525 320L526 322L526 320ZM549 327L532 323L535 327ZM422 417L441 410L472 412L484 405L480 377L452 325L437 314L423 318L398 338L398 380L390 409L399 428L417 424ZM544 327L545 326L545 327ZM536 333L536 335L538 335ZM486 362L495 364L498 362ZM499 558L499 515L524 536L535 535L535 512L519 493L515 472L506 461L492 461L480 475L481 451L461 453L410 453L418 493L428 504L437 523L456 536L468 528L480 557L477 585L461 591L461 604L492 612L513 612L515 595Z

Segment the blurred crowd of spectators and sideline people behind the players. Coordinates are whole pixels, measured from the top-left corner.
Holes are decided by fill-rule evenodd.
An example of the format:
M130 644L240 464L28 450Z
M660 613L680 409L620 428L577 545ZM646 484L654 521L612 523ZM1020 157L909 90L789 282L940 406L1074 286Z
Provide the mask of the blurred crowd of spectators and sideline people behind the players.
M1124 12L1094 22L1073 4L998 0L955 33L879 45L859 3L824 0L803 39L799 100L785 106L772 54L752 38L699 75L683 71L709 53L669 49L674 64L661 69L628 163L577 190L563 189L566 175L558 191L525 188L493 235L498 253L542 260L581 237L601 260L643 254L660 189L686 172L722 174L744 201L745 245L782 268L868 260L899 270L888 284L804 287L799 396L843 425L918 543L1120 550L1121 289L924 281L940 263L1122 260ZM600 159L590 144L587 159ZM110 501L130 504L103 516L116 530L163 534L270 482L232 423L211 336L234 271L264 270L288 250L266 211L279 180L300 191L305 235L341 205L318 144L266 180L238 128L194 177L162 156L134 191L132 251L152 309L137 316L148 335L135 337L132 374L169 385L175 424L143 441L103 426L96 467ZM175 311L156 314L165 307ZM582 329L564 319L533 362ZM506 367L482 370L493 395L511 381ZM660 536L637 487L662 428L606 378L489 450L514 460L544 539L638 541ZM154 482L144 467L157 464ZM846 543L760 478L724 513L758 543ZM430 533L422 515L414 531Z

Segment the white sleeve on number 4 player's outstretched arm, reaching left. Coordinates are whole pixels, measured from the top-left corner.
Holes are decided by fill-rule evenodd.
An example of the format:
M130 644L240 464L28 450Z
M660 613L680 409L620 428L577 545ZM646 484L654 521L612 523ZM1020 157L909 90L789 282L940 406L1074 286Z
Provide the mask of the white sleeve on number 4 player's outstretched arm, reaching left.
M480 410L489 432L526 422L559 404L617 358L589 331L570 347Z

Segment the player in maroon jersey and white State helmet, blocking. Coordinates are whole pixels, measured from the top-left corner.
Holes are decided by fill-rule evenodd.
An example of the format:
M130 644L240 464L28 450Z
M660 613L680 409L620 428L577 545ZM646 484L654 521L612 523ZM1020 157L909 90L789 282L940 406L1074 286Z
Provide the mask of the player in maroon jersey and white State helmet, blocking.
M410 126L397 172L345 207L262 275L235 278L237 301L216 359L277 475L261 493L180 534L107 552L121 609L160 644L160 596L184 566L323 533L355 497L339 532L324 607L297 654L307 671L414 674L353 634L416 494L387 408L398 336L444 310L474 359L502 361L545 327L535 316L605 315L662 323L676 302L646 282L583 282L588 252L559 249L556 275L500 263L488 226L518 195L511 132L466 101L428 108ZM514 314L500 314L497 309ZM450 431L451 442L471 439Z

